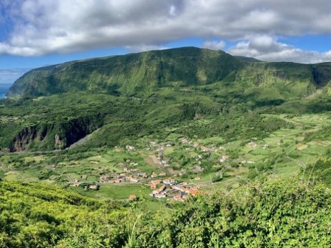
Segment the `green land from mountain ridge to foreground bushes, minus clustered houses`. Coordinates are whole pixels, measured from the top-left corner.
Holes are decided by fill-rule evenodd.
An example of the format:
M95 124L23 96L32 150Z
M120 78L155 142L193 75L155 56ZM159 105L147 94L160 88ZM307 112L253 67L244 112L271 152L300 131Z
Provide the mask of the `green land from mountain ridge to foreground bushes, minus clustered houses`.
M330 68L179 48L28 72L0 100L0 247L328 247ZM202 194L101 184L124 165Z

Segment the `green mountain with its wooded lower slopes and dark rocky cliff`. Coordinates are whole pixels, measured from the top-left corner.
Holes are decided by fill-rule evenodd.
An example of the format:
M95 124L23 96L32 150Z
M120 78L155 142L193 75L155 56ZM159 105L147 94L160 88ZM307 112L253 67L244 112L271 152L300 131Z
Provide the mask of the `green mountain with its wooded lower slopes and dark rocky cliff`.
M94 130L92 147L117 145L197 116L257 107L328 110L321 101L293 101L327 101L330 79L330 63L267 63L200 48L52 65L24 74L10 88L8 96L16 97L0 108L0 149L63 149ZM211 135L218 128L204 130Z

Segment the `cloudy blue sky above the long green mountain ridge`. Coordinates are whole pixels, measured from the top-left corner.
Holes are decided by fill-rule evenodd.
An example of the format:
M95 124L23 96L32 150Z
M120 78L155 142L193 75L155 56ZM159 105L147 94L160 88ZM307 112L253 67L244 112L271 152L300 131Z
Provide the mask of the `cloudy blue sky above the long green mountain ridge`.
M196 46L331 61L330 0L0 0L0 83L31 68Z

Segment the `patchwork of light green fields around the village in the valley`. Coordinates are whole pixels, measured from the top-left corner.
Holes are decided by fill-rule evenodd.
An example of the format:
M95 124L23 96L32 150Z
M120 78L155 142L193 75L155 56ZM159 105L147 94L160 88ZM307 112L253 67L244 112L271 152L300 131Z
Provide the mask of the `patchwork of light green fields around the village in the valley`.
M330 117L327 114L265 114L265 117L281 118L292 127L281 128L265 138L228 143L221 136L188 138L178 134L174 127L158 135L143 136L126 147L79 153L72 148L61 152L3 154L1 176L3 180L55 183L103 200L126 200L134 195L144 199L141 204L157 210L167 200L173 200L173 194L152 198L150 184L154 180L172 178L208 193L213 189L231 190L261 174L286 177L312 174L312 165L328 152L331 144L330 137L319 135L330 125ZM123 180L115 182L119 175ZM74 182L79 186L74 187ZM98 185L99 189L89 189L89 185Z

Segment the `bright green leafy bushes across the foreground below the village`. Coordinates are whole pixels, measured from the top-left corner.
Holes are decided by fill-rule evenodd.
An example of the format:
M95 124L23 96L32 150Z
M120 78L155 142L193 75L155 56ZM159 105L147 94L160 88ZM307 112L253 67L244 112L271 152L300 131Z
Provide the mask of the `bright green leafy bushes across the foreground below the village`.
M0 247L329 247L331 191L270 178L190 198L170 217L54 186L0 183Z

